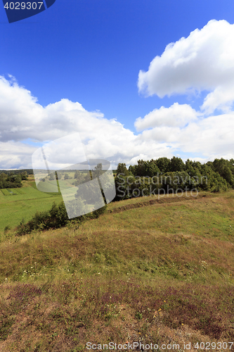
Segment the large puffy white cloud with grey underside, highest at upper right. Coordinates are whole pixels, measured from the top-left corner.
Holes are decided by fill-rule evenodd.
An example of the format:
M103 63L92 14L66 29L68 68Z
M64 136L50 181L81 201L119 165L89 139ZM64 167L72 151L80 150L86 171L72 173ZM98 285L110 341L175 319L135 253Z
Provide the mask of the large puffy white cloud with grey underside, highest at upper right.
M210 20L201 30L167 45L147 72L138 75L139 92L161 98L208 90L202 109L228 111L234 100L234 25Z

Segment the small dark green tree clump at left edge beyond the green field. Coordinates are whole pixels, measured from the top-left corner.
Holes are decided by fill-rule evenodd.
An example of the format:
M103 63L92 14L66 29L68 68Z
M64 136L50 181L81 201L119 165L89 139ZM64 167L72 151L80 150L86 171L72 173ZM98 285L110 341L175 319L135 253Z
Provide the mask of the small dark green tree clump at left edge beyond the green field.
M27 180L26 170L0 171L0 189L22 187L22 180Z

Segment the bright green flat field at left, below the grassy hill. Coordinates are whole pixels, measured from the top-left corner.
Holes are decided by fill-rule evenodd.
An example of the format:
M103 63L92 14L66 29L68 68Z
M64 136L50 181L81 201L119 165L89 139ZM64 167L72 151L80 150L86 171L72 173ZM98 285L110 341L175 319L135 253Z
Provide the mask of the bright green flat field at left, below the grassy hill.
M53 201L63 201L60 194L38 191L31 175L23 184L22 188L0 189L0 232L7 225L11 228L19 225L22 218L30 220L37 210L50 209Z

